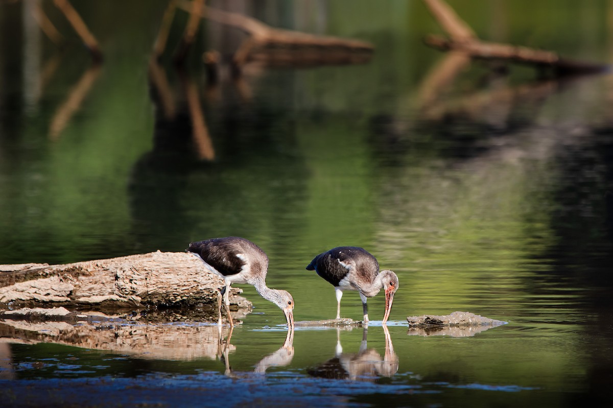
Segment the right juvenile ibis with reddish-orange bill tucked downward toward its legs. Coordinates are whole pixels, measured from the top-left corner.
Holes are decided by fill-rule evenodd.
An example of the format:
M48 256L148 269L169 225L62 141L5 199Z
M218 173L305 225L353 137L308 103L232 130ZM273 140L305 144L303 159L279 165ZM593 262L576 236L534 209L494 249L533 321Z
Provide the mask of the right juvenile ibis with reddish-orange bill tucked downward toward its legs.
M343 291L359 291L364 309L364 322L368 323L366 300L378 294L383 288L385 291L383 324L386 324L389 312L392 310L394 294L398 290L398 276L391 270L379 272L379 262L364 248L332 248L313 258L307 270L315 270L336 289L337 319L341 317Z

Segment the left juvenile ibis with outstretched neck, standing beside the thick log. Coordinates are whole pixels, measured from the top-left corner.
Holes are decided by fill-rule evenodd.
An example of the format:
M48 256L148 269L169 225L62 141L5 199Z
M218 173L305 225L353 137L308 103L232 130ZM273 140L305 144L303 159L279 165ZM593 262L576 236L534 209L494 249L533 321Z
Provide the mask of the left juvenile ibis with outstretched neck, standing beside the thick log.
M266 286L268 256L256 244L240 237L214 238L192 242L186 251L196 255L208 270L226 281L226 286L221 289L221 295L224 297L230 327L234 327L230 317L230 284L248 283L253 285L264 299L275 303L283 310L287 327L293 330L294 299L287 291L270 289ZM219 308L221 310L221 305Z

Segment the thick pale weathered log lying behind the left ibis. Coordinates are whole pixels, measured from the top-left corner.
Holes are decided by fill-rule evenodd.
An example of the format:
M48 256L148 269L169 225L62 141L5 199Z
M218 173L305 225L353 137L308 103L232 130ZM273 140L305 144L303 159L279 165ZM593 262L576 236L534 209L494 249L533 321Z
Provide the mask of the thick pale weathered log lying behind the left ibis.
M0 306L100 308L216 305L223 280L188 253L152 252L65 265L0 265ZM232 288L234 309L251 302Z

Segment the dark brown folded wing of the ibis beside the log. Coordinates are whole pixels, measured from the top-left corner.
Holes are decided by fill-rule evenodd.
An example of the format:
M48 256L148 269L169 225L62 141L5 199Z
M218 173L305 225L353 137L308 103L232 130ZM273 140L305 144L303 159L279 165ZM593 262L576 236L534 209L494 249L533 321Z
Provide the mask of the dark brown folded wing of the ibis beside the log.
M199 256L224 276L236 275L246 265L242 248L232 240L224 238L192 242L188 251Z

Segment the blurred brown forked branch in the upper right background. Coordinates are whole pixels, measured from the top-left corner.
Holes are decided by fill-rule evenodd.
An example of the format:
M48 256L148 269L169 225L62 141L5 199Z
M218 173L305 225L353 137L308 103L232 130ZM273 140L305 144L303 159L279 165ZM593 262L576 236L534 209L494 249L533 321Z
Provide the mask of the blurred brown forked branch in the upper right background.
M444 51L461 51L471 58L529 64L548 68L558 74L604 72L608 65L574 61L551 51L535 50L525 46L484 42L479 40L449 5L443 0L424 0L433 17L451 39L430 35L425 43Z

